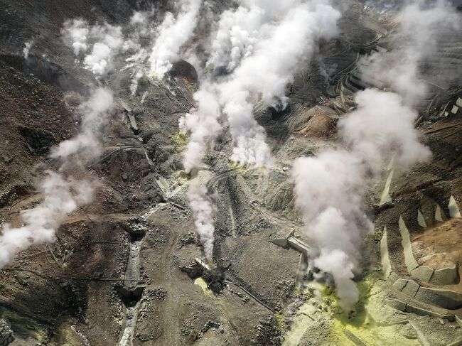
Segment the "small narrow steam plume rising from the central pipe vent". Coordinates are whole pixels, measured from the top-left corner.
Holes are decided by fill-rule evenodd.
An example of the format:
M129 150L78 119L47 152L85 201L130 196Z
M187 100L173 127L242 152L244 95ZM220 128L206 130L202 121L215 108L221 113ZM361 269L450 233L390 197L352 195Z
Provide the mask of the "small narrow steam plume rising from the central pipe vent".
M207 188L196 180L190 182L188 187L188 198L190 208L193 211L194 225L198 230L200 244L203 245L205 258L209 261L213 259L213 215L216 207L208 196Z

